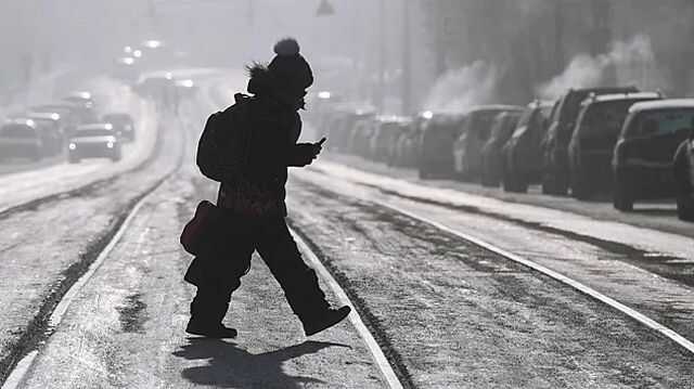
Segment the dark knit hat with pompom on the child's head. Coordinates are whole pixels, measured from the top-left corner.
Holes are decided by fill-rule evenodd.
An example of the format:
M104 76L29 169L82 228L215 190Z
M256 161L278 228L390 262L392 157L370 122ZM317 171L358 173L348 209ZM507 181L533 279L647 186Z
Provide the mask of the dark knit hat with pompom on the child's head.
M281 86L292 90L305 90L313 83L311 66L299 54L299 43L285 38L274 44L274 59L268 65L272 78Z

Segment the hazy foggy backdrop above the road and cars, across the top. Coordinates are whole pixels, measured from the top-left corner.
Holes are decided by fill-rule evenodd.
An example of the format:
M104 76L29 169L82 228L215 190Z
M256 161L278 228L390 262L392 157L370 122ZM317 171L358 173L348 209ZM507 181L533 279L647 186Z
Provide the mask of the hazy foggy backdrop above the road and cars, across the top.
M385 112L552 99L631 83L686 95L686 0L2 0L0 94L61 69L98 72L125 46L162 39L180 66L268 61L294 36L314 89ZM406 16L409 15L409 16ZM175 64L176 65L176 64Z

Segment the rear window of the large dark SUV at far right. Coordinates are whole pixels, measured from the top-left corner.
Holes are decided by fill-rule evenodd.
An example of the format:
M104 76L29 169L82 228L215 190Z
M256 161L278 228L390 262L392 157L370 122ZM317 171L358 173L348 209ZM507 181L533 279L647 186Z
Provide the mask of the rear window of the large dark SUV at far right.
M627 137L654 137L690 131L694 126L694 108L669 108L639 114L628 127Z

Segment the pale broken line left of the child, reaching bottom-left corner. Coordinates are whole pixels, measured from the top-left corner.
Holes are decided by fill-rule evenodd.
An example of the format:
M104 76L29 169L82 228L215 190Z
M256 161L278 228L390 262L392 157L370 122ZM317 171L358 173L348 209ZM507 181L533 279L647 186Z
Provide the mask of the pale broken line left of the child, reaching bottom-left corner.
M99 254L99 256L97 257L97 260L94 260L89 265L89 270L87 270L87 272L82 274L82 276L79 277L79 280L77 280L77 282L75 282L73 286L69 287L69 290L67 290L65 296L63 296L63 299L61 299L57 306L55 306L55 309L49 316L49 327L55 328L61 324L63 316L65 315L65 312L67 312L67 308L69 307L69 304L73 302L73 300L75 300L75 298L77 297L79 291L82 289L82 287L89 282L89 280L97 272L97 270L101 268L101 265L104 263L104 261L106 260L111 251L113 251L116 245L120 242L120 238L125 234L128 226L130 226L130 224L132 223L132 220L136 218L140 208L142 208L142 206L150 198L150 196L154 192L156 192L156 190L160 187L160 185L166 181L167 181L166 179L162 180L159 185L156 185L150 193L147 193L142 198L140 198L140 200L138 202L138 204L136 204L134 207L132 207L126 220L123 222L123 224L120 224L116 234L111 238L111 242L108 242L106 247L104 247L104 249ZM24 381L26 374L28 373L29 368L34 364L34 360L36 360L37 355L38 355L37 350L33 350L31 352L26 354L20 361L20 363L17 363L17 365L14 367L12 373L10 373L10 376L2 385L2 389L18 388L20 385Z

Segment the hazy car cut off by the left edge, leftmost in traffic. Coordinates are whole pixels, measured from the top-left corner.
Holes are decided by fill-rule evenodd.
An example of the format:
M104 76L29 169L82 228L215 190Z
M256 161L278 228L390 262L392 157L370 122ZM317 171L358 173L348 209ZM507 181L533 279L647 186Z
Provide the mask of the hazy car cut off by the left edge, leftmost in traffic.
M44 143L31 119L12 119L0 127L0 158L27 158L39 160Z

